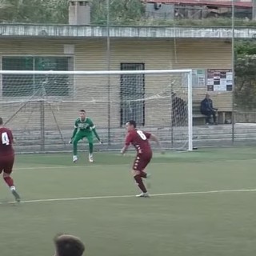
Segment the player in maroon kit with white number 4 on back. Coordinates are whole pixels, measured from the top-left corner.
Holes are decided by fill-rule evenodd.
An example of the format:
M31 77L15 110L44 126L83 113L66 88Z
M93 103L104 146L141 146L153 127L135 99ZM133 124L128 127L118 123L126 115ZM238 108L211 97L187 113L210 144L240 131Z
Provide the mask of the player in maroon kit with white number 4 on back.
M21 199L14 186L14 180L10 177L14 166L13 142L14 137L11 130L3 127L2 118L0 118L0 174L10 187L15 200L20 202Z

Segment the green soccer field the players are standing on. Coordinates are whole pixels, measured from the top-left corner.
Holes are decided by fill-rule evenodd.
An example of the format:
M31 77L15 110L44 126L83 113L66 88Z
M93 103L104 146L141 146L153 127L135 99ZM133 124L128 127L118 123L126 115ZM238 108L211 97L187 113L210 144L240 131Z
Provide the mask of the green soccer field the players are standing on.
M18 155L0 186L1 256L52 255L56 233L86 243L86 255L220 256L256 251L255 148L155 154L151 198L135 198L133 154ZM51 200L52 199L52 200Z

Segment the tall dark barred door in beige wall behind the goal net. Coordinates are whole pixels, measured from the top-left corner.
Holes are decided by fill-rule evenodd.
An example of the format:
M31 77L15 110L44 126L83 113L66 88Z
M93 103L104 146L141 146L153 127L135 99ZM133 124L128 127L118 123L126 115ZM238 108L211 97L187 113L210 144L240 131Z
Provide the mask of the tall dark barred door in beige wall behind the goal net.
M145 70L144 63L121 63L121 70ZM135 120L138 125L145 123L145 75L122 74L120 85L121 126L128 120Z

